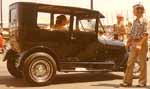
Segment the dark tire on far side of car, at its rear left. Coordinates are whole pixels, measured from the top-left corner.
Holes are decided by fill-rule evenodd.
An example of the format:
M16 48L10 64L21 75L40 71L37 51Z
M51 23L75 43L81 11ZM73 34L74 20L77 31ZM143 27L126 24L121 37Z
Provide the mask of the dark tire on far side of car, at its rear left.
M7 70L15 78L22 78L21 71L16 68L15 60L13 59L7 60Z

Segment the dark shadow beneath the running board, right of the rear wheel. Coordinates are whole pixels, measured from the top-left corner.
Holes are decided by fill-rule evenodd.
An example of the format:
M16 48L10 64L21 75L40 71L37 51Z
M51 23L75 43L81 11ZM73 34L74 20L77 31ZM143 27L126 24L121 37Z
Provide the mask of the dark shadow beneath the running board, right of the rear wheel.
M114 75L112 73L63 74L58 75L53 84L108 81L114 79L122 79L122 76Z

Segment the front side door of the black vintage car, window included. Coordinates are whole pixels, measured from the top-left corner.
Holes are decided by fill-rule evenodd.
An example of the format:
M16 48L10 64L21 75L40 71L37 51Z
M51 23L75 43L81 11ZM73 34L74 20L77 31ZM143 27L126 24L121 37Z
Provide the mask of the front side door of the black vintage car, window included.
M96 19L74 18L74 28L71 34L73 55L80 61L92 61L96 57L97 34L95 32Z

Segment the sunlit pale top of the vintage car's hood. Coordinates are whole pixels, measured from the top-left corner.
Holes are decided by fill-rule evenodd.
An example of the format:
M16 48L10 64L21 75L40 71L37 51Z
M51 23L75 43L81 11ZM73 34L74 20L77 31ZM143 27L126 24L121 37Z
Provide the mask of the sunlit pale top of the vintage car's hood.
M125 43L119 40L113 40L105 35L98 36L98 41L104 45L125 46Z

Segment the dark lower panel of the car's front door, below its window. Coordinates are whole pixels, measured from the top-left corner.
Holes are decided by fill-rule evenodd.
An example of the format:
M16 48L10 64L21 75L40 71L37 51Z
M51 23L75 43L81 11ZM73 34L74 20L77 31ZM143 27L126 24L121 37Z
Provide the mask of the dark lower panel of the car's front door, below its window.
M75 55L80 61L92 61L96 57L95 32L74 31L72 43L77 47Z

